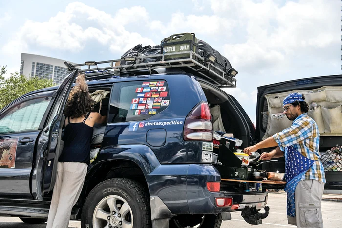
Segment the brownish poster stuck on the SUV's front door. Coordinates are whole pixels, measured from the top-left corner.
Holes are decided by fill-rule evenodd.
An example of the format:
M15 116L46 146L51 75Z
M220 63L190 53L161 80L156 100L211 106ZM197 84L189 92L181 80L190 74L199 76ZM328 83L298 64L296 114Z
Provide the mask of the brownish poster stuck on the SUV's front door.
M14 168L19 138L0 139L0 169Z

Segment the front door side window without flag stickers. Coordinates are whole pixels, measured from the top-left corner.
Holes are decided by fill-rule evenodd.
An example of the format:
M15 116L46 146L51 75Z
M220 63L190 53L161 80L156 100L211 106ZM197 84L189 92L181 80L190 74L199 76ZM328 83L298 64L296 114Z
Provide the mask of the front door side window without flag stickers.
M18 102L0 117L0 134L38 130L51 97Z

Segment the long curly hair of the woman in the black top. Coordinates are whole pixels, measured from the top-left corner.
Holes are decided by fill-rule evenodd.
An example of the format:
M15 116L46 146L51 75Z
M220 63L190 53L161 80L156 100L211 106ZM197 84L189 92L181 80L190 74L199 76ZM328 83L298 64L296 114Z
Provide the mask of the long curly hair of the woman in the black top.
M93 108L94 101L88 91L85 75L79 73L76 78L76 85L70 91L63 114L70 118L79 118L85 116Z

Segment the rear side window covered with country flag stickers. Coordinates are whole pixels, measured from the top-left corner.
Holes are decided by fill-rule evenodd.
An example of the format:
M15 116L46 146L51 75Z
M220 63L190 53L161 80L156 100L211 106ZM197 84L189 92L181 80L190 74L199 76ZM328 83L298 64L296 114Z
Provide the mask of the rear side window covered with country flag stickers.
M145 120L170 104L166 81L136 81L114 84L109 122Z

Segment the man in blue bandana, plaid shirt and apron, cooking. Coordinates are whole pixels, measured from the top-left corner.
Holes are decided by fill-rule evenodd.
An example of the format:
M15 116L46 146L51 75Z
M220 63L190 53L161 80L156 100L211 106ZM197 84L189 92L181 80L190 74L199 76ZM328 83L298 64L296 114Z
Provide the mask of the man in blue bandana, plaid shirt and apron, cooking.
M308 116L308 105L301 93L291 93L283 101L291 127L244 149L250 154L258 149L275 147L262 153L262 160L285 156L288 223L298 228L322 228L321 199L325 175L320 161L320 135L316 122Z

